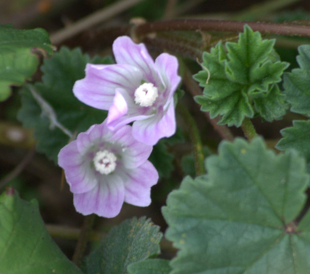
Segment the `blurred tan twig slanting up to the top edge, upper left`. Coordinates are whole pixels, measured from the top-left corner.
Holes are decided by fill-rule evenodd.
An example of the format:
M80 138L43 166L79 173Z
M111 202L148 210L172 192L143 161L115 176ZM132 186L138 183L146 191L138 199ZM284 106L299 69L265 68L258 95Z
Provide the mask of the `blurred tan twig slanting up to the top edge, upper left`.
M65 27L64 29L52 33L50 35L50 41L52 44L60 44L65 39L68 39L79 32L85 31L100 22L103 22L124 10L130 8L131 6L141 2L142 0L121 0L117 1L108 7L105 7L89 16L86 16L77 22Z

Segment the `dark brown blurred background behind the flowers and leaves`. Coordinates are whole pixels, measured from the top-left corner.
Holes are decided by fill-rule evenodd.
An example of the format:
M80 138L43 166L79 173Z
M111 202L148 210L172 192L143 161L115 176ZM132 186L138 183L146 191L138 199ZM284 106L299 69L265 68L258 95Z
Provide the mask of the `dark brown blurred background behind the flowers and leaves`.
M133 24L173 18L225 19L245 21L281 22L310 18L310 1L298 0L0 0L0 24L13 24L18 29L41 27L50 34L52 44L58 48L81 47L90 55L111 54L113 40L124 34L130 34ZM171 33L170 33L171 34ZM164 33L162 35L165 35ZM177 33L176 33L177 35ZM186 34L188 38L202 43L200 33ZM186 36L185 35L185 36ZM164 36L163 36L164 37ZM235 35L235 37L237 37ZM269 35L267 38L272 38ZM277 37L277 51L282 61L290 62L292 69L296 65L295 56L298 45L309 43L308 38ZM144 42L144 41L143 41ZM164 50L162 45L147 43L151 53L158 55ZM1 43L1 42L0 42ZM179 54L178 48L169 48L172 54ZM196 73L200 66L194 53L183 55L184 62ZM40 80L38 71L33 80ZM186 92L183 104L199 126L202 141L208 144L204 148L205 156L215 153L221 138L208 123L192 96ZM26 200L37 199L42 217L55 241L65 254L71 258L75 247L78 228L83 216L77 213L72 203L72 194L64 184L61 188L62 170L44 155L35 152L35 140L31 129L23 129L16 119L20 107L18 89L13 96L0 103L0 192L6 186L14 186L20 196ZM167 154L158 154L169 158L167 166L156 186L152 189L152 204L147 208L138 208L124 204L121 213L113 219L97 218L92 234L92 244L96 244L102 233L111 226L132 216L147 216L165 231L165 221L161 216L161 207L167 194L177 188L185 175L194 176L192 149L186 134L184 121L179 116L179 129L174 140L166 142L161 149ZM267 123L254 119L259 134L273 146L279 139L279 129L291 125L296 114L288 113L279 122ZM300 119L300 117L298 117ZM240 129L232 128L235 135L242 136ZM157 157L156 155L154 157ZM165 162L167 159L163 159ZM161 159L157 157L157 160ZM57 236L59 229L68 230L67 239ZM169 243L163 242L163 256L173 255Z

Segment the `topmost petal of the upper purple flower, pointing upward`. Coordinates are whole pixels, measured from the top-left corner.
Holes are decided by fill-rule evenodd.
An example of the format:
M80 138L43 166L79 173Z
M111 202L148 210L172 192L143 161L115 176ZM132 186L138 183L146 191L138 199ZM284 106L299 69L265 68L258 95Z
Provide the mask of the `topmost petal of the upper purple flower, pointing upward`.
M154 61L144 44L136 44L130 37L121 36L113 42L112 48L117 64L131 64L138 67L144 73L145 81L158 83Z

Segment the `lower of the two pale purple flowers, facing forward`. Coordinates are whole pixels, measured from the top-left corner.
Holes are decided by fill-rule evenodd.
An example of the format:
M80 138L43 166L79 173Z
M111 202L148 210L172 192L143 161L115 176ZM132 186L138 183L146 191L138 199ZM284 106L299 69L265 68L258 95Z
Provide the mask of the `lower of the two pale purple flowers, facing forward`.
M106 121L78 134L58 154L78 212L115 217L124 202L145 207L158 173L147 161L153 147L137 141L131 126L115 131Z

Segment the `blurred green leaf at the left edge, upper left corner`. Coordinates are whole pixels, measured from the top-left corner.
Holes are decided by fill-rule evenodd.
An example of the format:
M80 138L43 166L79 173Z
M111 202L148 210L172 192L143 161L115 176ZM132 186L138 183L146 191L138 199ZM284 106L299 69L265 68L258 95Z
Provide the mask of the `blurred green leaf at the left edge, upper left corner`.
M10 96L12 85L20 86L31 79L39 55L50 57L52 53L45 30L16 30L12 25L0 25L0 101Z

